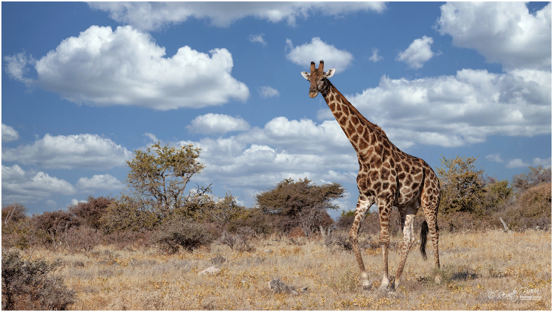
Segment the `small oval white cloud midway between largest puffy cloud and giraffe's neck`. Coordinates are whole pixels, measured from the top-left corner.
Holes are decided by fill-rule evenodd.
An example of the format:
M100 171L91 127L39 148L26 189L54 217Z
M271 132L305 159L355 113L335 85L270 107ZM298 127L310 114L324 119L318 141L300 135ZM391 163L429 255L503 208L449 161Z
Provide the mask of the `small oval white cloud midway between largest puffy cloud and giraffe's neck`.
M225 134L229 131L248 130L249 124L239 116L208 113L194 118L186 128L195 133Z

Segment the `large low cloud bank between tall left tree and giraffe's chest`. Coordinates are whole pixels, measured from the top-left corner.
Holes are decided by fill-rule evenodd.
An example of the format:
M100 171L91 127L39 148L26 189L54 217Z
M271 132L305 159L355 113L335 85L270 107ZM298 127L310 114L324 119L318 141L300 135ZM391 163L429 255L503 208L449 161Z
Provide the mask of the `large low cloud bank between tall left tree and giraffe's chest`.
M173 142L201 147L204 173L195 179L245 192L242 198L269 188L283 178L314 181L354 181L357 157L336 121L276 117L263 128L254 127L229 138Z

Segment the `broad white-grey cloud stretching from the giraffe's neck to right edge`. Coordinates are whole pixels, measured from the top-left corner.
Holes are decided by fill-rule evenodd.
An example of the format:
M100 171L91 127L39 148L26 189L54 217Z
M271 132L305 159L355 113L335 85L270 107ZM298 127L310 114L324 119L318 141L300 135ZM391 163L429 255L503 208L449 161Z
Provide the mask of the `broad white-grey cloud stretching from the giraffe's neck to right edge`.
M400 148L551 133L550 72L463 69L416 80L383 76L378 87L346 97Z

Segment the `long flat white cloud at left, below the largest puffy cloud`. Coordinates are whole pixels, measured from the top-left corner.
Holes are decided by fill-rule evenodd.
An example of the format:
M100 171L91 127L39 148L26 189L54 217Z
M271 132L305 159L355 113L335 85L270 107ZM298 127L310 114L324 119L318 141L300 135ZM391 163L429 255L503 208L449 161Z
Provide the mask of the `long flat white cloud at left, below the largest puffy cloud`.
M2 149L2 161L17 161L44 168L109 169L125 165L132 152L97 134L44 135L30 145Z

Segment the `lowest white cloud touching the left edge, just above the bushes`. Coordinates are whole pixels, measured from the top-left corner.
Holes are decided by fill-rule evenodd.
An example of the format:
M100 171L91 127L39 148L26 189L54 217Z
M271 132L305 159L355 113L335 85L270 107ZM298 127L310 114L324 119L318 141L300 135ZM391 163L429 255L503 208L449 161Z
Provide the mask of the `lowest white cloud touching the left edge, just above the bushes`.
M48 198L51 194L71 195L76 188L64 179L50 177L42 171L25 172L18 165L2 165L2 201L19 203L36 203Z

